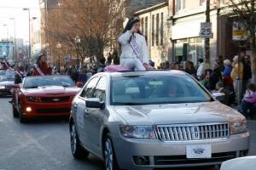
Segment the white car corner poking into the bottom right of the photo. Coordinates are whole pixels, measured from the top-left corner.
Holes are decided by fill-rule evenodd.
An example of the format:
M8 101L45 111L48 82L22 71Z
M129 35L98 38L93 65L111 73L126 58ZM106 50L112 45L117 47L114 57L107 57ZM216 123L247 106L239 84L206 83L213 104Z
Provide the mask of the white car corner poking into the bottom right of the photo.
M224 161L220 170L253 170L256 167L256 156L246 156Z

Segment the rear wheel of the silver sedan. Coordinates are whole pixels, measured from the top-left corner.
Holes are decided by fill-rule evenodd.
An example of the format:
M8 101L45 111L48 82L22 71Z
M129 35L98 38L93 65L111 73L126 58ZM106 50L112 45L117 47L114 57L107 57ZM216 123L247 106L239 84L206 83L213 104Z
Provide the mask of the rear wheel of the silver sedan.
M89 156L89 152L87 150L84 150L84 148L81 146L77 129L73 122L71 123L69 131L70 131L70 146L71 146L72 155L76 159L87 158Z

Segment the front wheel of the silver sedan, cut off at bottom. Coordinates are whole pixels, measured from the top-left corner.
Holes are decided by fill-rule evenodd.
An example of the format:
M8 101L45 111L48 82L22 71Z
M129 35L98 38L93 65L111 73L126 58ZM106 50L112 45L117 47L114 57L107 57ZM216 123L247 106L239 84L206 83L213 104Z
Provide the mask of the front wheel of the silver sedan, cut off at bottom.
M119 170L118 163L116 161L115 153L113 150L113 142L109 134L104 140L103 154L106 170Z

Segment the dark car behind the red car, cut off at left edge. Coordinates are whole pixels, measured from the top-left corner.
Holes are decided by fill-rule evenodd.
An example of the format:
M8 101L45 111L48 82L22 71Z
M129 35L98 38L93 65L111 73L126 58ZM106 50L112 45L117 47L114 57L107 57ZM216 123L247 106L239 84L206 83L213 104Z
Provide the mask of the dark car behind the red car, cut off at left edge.
M15 85L15 75L0 76L0 96L12 94Z

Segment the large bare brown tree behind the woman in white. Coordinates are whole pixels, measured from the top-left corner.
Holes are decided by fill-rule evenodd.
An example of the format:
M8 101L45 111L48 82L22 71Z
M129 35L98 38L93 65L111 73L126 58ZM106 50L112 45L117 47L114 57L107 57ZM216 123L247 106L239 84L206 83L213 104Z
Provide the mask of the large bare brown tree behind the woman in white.
M56 51L61 42L61 51L76 54L83 62L90 57L99 62L104 49L117 48L117 37L122 30L124 10L128 0L62 0L61 5L48 14L49 47ZM77 46L75 37L81 42ZM114 47L115 46L115 47Z

